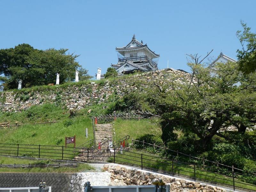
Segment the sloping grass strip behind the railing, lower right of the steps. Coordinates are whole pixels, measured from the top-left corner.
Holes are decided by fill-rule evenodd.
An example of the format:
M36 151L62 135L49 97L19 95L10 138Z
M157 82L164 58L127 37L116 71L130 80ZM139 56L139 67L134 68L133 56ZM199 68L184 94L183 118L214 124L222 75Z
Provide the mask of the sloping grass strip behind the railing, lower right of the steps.
M142 165L144 169L156 170L158 172L164 172L172 174L172 161L164 160L157 156L153 156L145 151L124 151L123 154L116 153L115 161L119 164L128 164L134 165L136 167L141 167L141 154L143 157ZM113 160L113 159L112 159ZM173 162L173 172L174 176L185 176L194 179L194 165L193 164L181 164ZM228 187L233 186L232 177L228 177L225 175L221 175L218 173L207 172L202 170L200 167L196 166L196 180L211 182L211 183L220 183L225 185L229 185ZM237 183L241 182L241 183ZM241 188L248 188L252 190L256 190L256 186L250 186L252 184L248 184L241 179L235 179L235 186Z

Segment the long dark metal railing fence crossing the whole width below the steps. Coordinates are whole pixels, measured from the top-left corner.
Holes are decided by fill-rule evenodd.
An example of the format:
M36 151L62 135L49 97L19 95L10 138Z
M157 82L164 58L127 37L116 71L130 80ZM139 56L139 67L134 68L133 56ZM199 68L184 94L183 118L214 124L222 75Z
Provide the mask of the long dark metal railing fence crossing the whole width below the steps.
M83 150L83 148L81 148ZM181 176L194 179L195 181L205 181L222 186L228 186L232 189L242 189L256 191L256 185L251 184L256 176L252 174L241 174L228 171L227 174L220 174L205 170L196 164L177 161L175 159L165 159L154 155L136 153L132 151L113 149L87 149L86 153L74 154L73 148L64 146L46 146L46 145L21 145L21 144L0 144L0 155L5 156L27 156L47 159L74 160L83 162L99 162L105 160L108 162L132 165L141 169L154 170L156 172L170 174L172 176Z

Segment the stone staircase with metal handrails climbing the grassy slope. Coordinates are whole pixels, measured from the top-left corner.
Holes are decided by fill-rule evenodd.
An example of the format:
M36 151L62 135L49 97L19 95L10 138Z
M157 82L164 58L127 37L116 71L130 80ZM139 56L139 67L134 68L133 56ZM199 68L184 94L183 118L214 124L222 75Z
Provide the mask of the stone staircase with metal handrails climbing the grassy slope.
M76 160L85 161L85 162L106 162L108 158L112 155L108 148L108 142L104 143L101 146L101 149L98 149L98 144L100 142L107 141L108 138L113 138L113 126L112 124L95 124L95 144L96 148L89 149L87 151L82 151L78 156L75 157ZM110 141L110 139L108 139Z

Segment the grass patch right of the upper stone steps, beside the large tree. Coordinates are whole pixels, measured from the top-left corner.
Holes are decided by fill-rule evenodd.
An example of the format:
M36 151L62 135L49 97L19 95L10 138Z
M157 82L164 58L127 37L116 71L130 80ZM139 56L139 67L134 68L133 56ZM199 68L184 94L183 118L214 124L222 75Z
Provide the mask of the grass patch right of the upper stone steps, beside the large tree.
M132 139L136 139L137 136L143 134L154 134L160 136L162 134L161 128L152 123L150 119L140 119L138 120L123 120L116 119L114 123L114 128L116 136L114 141L123 138L126 135L130 135L130 142Z

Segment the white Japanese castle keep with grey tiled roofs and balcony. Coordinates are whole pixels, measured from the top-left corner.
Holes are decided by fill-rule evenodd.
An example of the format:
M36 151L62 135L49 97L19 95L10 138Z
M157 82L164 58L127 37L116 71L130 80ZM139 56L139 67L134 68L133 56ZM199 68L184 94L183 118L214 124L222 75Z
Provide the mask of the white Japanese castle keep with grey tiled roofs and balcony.
M132 41L124 47L116 47L118 63L111 64L118 75L132 73L134 71L156 71L159 54L151 51L147 44L139 42L132 37ZM155 60L155 61L153 61Z

